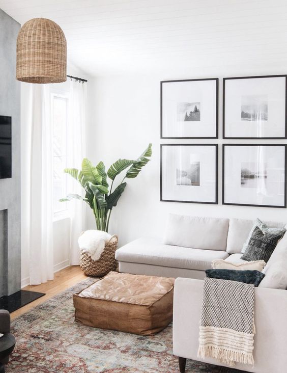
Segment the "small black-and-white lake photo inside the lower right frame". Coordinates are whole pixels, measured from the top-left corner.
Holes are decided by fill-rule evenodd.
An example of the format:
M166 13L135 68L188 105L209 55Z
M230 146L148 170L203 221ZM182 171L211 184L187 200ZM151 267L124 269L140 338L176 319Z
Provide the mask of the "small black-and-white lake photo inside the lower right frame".
M267 166L265 163L241 163L241 188L266 188Z

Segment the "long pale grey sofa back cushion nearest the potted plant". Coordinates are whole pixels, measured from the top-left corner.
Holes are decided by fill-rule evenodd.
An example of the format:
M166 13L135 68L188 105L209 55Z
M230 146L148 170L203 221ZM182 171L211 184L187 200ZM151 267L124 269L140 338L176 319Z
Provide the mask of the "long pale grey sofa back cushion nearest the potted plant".
M226 250L229 219L169 214L163 243L205 250Z

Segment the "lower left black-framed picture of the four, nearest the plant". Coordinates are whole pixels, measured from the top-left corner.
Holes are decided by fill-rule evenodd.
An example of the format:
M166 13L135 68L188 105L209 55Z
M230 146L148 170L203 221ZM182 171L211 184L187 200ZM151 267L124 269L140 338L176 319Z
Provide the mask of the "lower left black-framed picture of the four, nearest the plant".
M218 203L218 145L161 144L160 200Z

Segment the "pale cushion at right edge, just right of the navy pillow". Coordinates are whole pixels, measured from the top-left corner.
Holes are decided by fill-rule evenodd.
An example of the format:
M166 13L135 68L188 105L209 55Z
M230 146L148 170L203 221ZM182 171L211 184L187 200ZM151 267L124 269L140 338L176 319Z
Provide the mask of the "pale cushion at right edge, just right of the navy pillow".
M285 290L287 288L286 264L280 262L271 264L259 286Z

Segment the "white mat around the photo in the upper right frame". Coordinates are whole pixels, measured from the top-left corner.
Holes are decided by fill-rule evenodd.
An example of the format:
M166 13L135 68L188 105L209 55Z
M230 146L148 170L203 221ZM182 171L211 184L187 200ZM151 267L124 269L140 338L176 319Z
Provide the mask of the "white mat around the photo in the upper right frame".
M226 79L224 103L225 137L285 137L284 76L268 78ZM242 96L267 95L268 120L241 120Z

